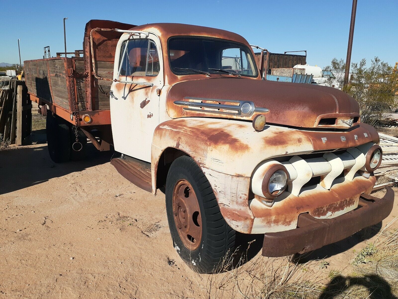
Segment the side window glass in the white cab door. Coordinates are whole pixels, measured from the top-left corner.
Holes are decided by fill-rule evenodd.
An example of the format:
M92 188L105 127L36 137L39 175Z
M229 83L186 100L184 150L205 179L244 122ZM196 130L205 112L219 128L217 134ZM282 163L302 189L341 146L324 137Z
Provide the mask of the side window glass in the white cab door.
M148 39L131 39L122 44L120 76L156 76L160 70L156 45Z

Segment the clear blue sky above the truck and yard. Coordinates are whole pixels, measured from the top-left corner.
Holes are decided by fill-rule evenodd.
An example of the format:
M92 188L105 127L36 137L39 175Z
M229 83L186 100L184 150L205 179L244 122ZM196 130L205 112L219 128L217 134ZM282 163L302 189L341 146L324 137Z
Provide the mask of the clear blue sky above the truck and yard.
M129 24L173 22L233 31L249 43L274 53L307 50L307 63L324 67L347 54L351 0L334 1L0 1L0 62L23 60L64 50L62 18L68 51L82 49L84 26L90 19ZM20 12L20 17L18 13ZM398 61L398 0L359 0L351 61L374 56Z

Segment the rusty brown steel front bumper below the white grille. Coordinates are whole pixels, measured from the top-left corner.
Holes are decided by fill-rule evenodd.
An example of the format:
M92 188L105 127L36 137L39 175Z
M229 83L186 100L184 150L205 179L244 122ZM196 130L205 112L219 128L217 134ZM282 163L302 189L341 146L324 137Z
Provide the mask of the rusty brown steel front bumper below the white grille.
M361 194L357 209L330 219L318 219L303 213L297 228L264 234L263 256L280 257L305 253L338 242L355 232L386 218L394 204L394 191L386 187L383 198Z

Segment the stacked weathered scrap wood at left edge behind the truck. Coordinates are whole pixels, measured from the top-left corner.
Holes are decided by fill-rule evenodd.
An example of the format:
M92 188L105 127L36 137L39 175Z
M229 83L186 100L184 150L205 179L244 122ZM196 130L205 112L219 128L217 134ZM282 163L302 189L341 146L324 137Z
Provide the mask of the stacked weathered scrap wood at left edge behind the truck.
M21 145L30 135L32 105L28 98L25 81L8 79L0 87L0 134L2 141ZM6 81L6 82L4 82Z

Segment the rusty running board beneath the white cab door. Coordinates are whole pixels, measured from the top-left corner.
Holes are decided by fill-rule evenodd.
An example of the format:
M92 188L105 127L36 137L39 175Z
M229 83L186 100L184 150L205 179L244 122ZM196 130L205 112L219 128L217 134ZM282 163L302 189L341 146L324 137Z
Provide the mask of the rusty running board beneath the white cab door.
M152 192L150 163L123 155L123 157L111 159L111 165L137 187Z

